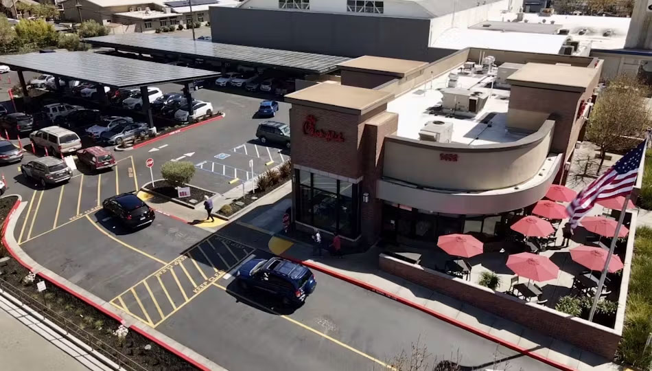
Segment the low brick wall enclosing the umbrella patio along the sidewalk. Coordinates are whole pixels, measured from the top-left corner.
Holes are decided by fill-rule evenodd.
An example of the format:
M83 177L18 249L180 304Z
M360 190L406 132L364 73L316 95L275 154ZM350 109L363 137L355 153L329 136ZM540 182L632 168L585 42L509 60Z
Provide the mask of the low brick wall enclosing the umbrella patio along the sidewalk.
M495 293L485 287L470 284L458 278L450 278L443 273L419 265L412 265L384 254L380 255L379 265L380 269L395 276L467 302L484 311L522 324L553 339L566 341L607 359L614 357L618 341L620 341L620 336L604 326L590 324L583 319L570 317L552 311L550 308L528 304L515 297Z

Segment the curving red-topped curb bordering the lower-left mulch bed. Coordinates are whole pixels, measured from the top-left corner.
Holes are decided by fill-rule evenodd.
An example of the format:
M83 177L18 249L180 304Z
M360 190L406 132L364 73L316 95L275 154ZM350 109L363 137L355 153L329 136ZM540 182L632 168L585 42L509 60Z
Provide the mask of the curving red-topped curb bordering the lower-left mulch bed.
M2 240L3 246L5 247L5 249L7 249L9 254L17 262L21 263L21 265L23 265L23 267L25 267L25 268L29 269L30 271L38 274L38 276L41 276L41 277L45 278L45 280L48 280L49 282L51 282L51 284L54 284L55 286L58 286L60 289L66 291L67 293L70 293L71 295L73 295L75 297L78 297L78 299L82 300L82 302L93 306L93 308L95 308L98 311L100 311L100 312L108 315L109 317L115 319L119 323L121 323L124 326L128 327L130 330L134 330L136 333L139 333L139 335L142 335L143 337L146 337L147 339L150 339L151 341L158 344L162 348L165 348L166 350L172 352L177 357L180 357L181 359L184 359L185 361L190 363L192 366L198 368L199 370L226 371L226 369L222 368L222 366L219 366L217 363L214 363L213 361L207 359L206 357L203 357L202 355L195 352L194 350L191 350L191 349L189 349L189 348L187 348L187 347L185 347L185 346L183 346L181 344L178 344L178 343L177 343L178 347L168 344L168 343L174 341L174 339L171 339L171 338L167 337L165 334L159 333L157 331L157 334L159 336L165 337L166 339L170 339L170 341L163 341L161 339L158 339L158 337L152 335L151 333L148 333L147 330L143 330L142 328L139 328L139 322L136 321L135 319L131 319L131 317L124 317L123 318L123 317L121 317L120 315L117 314L117 310L115 310L115 312L114 312L114 311L112 311L112 310L110 310L108 308L104 308L104 306L102 304L97 304L97 302L95 302L95 300L91 299L90 297L87 297L86 295L82 295L81 293L77 292L77 291L84 291L83 289L75 287L75 290L73 290L70 287L66 286L65 284L62 284L58 280L53 280L51 277L56 276L55 273L45 269L44 267L41 267L40 265L38 265L38 262L34 261L34 267L32 267L31 265L25 263L25 261L22 260L19 257L18 251L20 251L21 254L24 254L25 256L27 256L27 254L22 252L22 249L20 248L18 243L16 243L16 241L13 240L13 238L12 238L12 240L13 240L12 242L15 243L14 247L10 247L10 244L8 243L8 241L6 239L7 238L6 237L7 236L6 231L8 229L8 225L10 224L10 221L12 221L12 217L14 216L14 213L16 212L19 205L21 204L22 197L19 194L8 194L7 196L18 196L19 199L18 199L18 201L16 201L16 203L14 204L12 209L10 210L9 214L7 214L7 218L5 218L5 221L4 221L4 223L2 225L2 229L1 229L1 234L2 234L1 240ZM13 232L13 230L12 230L12 232ZM14 251L14 249L15 249L15 251ZM47 271L48 273L51 272L52 274L51 275L46 274L46 273L44 273L44 271ZM75 286L75 285L71 284L71 286ZM89 295L92 295L92 294L89 293ZM97 299L99 299L99 297ZM154 329L152 329L152 330L154 330ZM156 331L156 330L154 330L154 331ZM181 350L178 350L177 348L184 348L186 350L186 352L191 353L193 357L190 357L189 355L186 355L184 352L181 352ZM198 361L196 359L200 359L200 361ZM205 365L209 365L209 366L205 366Z

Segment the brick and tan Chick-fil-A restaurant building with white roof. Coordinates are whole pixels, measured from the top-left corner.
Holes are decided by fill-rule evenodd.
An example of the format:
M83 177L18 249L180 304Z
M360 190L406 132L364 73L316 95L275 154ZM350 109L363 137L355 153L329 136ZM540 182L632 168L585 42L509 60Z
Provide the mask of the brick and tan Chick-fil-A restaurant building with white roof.
M601 67L474 48L433 63L342 63L341 84L286 95L294 225L358 247L501 238L513 216L565 182Z

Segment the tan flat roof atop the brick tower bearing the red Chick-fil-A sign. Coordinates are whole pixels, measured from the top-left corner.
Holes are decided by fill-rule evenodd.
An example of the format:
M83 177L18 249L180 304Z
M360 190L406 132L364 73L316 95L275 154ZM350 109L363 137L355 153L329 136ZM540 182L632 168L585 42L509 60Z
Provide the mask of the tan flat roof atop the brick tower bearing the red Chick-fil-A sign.
M386 91L338 84L317 84L285 96L288 103L353 114L364 114L392 98Z

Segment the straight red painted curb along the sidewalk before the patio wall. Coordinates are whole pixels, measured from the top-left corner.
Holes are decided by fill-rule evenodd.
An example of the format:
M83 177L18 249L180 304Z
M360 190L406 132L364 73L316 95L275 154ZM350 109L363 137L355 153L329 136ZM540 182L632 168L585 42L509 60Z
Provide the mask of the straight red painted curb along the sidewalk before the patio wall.
M439 312L433 311L432 309L422 306L421 304L417 304L415 302L410 302L410 300L406 300L403 297L399 297L394 295L393 293L390 293L388 291L385 291L383 289L380 289L376 286L372 286L371 284L367 284L366 282L362 282L360 280L357 280L356 278L352 278L349 276L345 276L341 273L338 273L336 271L331 271L330 269L326 269L322 267L321 265L316 265L312 262L307 262L305 260L299 260L292 258L290 256L283 256L283 258L286 258L288 260L293 260L294 262L299 262L306 267L310 267L312 269L315 269L316 271L321 271L322 273L326 273L329 276L333 276L334 278L338 278L340 280L349 282L351 284L355 284L356 286L362 287L362 289L366 289L369 291L373 291L374 293L377 293L379 295L383 295L384 297L388 297L391 300L395 300L396 302L399 302L401 304L405 304L407 306L411 306L412 308L418 309L419 311L428 313L429 315L432 315L433 317L439 318L445 322L448 322L449 324L452 324L454 326L457 326L459 328L462 328L463 330L469 331L469 333L473 333L475 335L478 335L480 337L484 337L487 340L493 341L494 343L500 344L506 348L510 348L511 350L515 350L517 352L522 353L523 355L526 355L528 357L531 357L533 359L536 359L537 361L546 363L548 366L552 366L554 368L557 368L559 370L563 371L577 371L574 368L570 368L562 363L558 363L557 361L552 361L552 359L549 359L547 357L543 357L542 355L538 355L535 352L531 352L530 350L527 350L526 348L523 348L521 346L517 346L516 344L512 344L509 341L504 341L503 339L500 339L500 337L496 337L494 335L491 335L489 333L486 333L485 331L479 330L478 328L474 328L473 326L469 326L465 324L464 322L460 322L457 319L454 319L452 317L448 317L447 315L443 315Z

